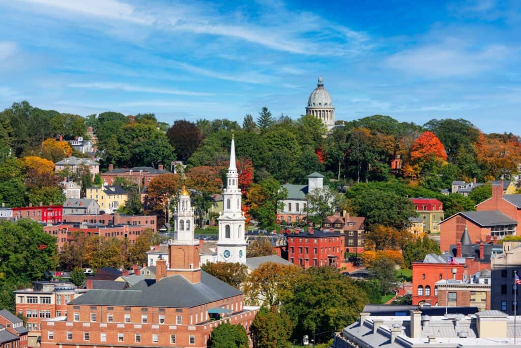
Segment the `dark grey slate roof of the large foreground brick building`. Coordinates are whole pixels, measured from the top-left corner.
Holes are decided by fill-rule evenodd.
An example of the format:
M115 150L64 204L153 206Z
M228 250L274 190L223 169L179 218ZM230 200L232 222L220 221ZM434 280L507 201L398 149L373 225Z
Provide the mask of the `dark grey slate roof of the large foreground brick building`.
M145 283L142 281L141 283ZM190 308L242 294L234 287L201 271L201 282L191 283L182 275L172 275L150 286L128 290L91 290L73 299L73 305L142 306Z

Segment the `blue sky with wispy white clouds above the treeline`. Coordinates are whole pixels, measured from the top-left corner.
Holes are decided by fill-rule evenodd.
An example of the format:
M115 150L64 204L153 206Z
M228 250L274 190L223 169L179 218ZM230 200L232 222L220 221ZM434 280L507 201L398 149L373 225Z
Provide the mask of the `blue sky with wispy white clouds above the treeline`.
M466 118L521 134L521 2L0 0L0 107L165 122Z

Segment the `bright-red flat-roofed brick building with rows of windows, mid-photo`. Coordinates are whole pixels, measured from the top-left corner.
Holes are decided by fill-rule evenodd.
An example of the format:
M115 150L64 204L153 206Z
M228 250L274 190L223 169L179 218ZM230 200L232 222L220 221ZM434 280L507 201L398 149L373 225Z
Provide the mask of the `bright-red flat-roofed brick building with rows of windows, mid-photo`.
M306 232L295 230L287 238L288 260L306 269L313 266L338 268L344 258L344 235L332 229L316 231L309 227Z

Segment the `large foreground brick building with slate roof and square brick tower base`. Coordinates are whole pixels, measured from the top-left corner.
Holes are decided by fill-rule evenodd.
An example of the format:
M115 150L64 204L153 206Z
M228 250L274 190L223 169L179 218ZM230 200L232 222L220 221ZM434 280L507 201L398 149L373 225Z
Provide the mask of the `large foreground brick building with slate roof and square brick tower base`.
M41 347L205 347L224 321L249 332L258 307L244 306L241 291L200 269L193 232L176 237L169 243L170 267L157 260L155 280L74 299L66 317L42 322Z

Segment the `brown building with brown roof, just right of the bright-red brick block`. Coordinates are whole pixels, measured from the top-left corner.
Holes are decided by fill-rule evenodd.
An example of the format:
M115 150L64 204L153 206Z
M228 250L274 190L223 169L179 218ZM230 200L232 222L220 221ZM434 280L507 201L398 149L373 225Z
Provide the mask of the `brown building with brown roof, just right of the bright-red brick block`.
M329 231L333 229L344 235L344 252L358 253L364 252L365 248L365 218L352 217L347 211L342 215L335 213L327 217L322 222L322 231Z

